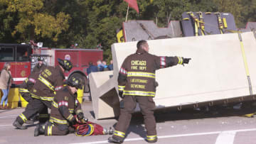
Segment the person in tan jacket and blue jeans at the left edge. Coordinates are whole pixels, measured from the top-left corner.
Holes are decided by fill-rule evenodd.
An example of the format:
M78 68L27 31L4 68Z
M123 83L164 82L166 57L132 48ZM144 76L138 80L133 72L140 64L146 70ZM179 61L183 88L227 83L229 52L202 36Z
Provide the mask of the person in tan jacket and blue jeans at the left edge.
M0 104L0 109L9 109L7 107L7 102L8 102L8 94L9 94L9 89L11 87L11 64L9 62L6 62L4 64L3 70L1 70L1 76L0 76L0 89L4 93L2 99L1 99L1 104ZM4 106L3 106L4 103Z

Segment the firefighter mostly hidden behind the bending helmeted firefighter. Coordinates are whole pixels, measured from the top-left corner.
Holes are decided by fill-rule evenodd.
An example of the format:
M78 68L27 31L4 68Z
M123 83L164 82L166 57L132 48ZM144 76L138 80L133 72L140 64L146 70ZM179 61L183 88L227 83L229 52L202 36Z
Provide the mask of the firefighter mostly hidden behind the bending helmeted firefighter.
M25 81L19 86L18 92L21 94L23 99L25 99L28 104L26 106L26 109L31 109L33 99L37 99L37 97L31 96L30 92L33 88L33 85L36 82L36 79L38 78L38 75L42 70L44 70L47 66L43 64L43 57L38 57L38 64L33 68L33 71L28 76ZM39 122L43 123L46 122L48 119L48 109L43 109L41 113L39 114ZM32 120L26 121L28 124L33 124Z

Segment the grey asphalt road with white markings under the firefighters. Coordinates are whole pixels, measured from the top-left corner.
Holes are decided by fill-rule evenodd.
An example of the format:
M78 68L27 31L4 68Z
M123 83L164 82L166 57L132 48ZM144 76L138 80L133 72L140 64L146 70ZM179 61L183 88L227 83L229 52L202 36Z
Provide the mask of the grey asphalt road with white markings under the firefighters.
M92 104L84 102L82 109L90 121L106 128L114 126L117 120L95 120L92 114ZM0 110L0 143L107 143L110 135L95 135L80 137L74 134L65 136L33 136L35 125L27 130L17 130L13 121L23 108ZM246 118L244 113L249 109L234 110L218 108L206 113L194 110L158 111L156 116L157 143L174 144L255 144L256 118ZM135 113L127 131L124 143L146 143L146 131L140 113Z

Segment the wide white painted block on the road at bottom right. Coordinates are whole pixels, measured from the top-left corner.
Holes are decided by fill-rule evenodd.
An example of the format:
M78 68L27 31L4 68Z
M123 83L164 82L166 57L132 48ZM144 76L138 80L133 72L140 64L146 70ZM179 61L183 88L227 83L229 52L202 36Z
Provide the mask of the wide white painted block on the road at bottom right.
M223 131L218 135L215 144L233 144L236 131Z

